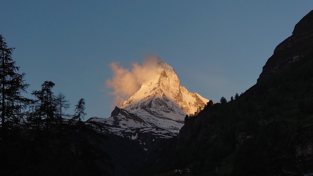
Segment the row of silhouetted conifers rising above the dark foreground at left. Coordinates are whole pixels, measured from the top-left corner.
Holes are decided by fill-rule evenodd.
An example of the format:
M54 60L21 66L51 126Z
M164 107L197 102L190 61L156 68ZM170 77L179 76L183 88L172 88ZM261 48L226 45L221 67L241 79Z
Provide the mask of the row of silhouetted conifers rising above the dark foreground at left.
M8 128L26 122L35 128L45 124L61 124L64 117L70 118L69 122L82 122L87 115L85 113L85 99L80 99L75 105L74 115L66 114L70 107L63 93L54 96L52 81L44 81L41 90L32 91L35 100L22 96L27 93L29 84L25 83L25 73L19 71L16 62L12 59L15 48L8 47L2 34L0 34L0 112L1 129L3 132ZM26 120L26 121L25 121Z

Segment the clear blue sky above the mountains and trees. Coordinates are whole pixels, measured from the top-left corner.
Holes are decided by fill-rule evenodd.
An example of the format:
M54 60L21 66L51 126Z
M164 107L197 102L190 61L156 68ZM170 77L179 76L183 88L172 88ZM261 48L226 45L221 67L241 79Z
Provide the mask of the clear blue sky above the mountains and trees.
M71 102L67 112L85 98L88 119L114 108L109 64L131 69L149 54L171 65L189 91L229 100L256 83L313 1L0 0L0 7L0 34L16 48L28 92L51 80Z

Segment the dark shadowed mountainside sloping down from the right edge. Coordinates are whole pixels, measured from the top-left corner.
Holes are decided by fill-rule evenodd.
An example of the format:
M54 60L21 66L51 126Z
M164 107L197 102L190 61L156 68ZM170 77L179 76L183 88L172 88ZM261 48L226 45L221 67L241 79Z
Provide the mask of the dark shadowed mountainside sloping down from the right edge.
M234 101L206 107L139 175L313 175L313 11Z

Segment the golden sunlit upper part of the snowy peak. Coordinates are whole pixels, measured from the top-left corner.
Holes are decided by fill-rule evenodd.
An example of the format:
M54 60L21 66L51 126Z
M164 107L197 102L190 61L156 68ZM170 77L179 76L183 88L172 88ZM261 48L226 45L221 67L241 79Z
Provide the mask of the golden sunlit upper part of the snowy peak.
M199 106L204 106L209 101L197 93L190 93L184 86L180 85L180 80L170 65L163 61L158 62L158 64L160 65L159 69L162 70L160 74L151 79L150 82L143 83L140 90L124 101L120 108L127 111L142 109L139 107L151 104L151 99L157 97L165 99L167 102L171 101L173 106L178 105L182 109L179 114L186 115L195 112ZM197 101L196 104L190 102L194 100ZM134 104L137 106L135 105L135 107Z

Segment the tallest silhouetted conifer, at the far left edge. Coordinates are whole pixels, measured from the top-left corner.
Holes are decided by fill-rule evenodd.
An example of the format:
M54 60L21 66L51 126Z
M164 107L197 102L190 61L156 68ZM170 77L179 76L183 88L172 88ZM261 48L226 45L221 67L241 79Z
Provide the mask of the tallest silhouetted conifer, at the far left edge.
M23 111L31 102L21 95L27 93L29 84L24 83L25 73L16 73L19 67L15 66L15 61L12 59L14 49L8 47L0 34L0 111L3 128L7 126L6 122L19 123L23 118Z

